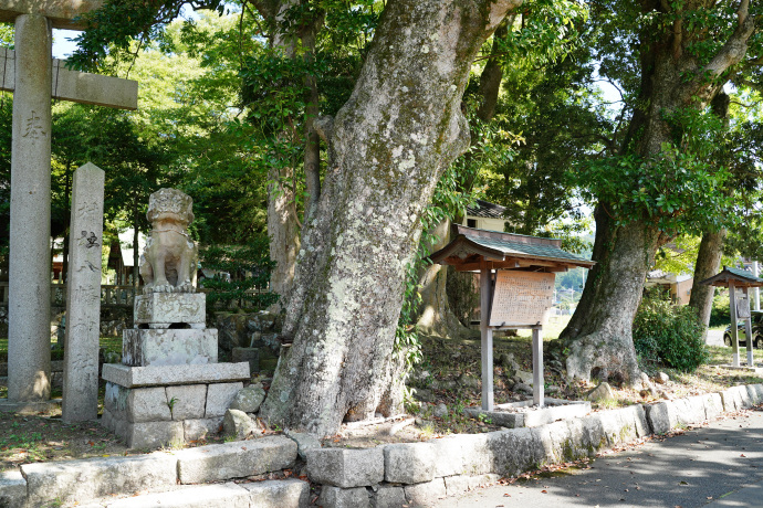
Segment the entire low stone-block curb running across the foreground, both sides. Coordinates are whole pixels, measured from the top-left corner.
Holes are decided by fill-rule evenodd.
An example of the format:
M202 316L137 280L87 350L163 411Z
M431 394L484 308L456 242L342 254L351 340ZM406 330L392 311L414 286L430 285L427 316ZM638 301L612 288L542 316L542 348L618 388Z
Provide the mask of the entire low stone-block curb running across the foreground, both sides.
M761 402L763 384L738 385L719 393L646 406L633 405L536 427L454 435L366 449L310 447L304 453L311 480L324 485L320 504L325 508L380 508L400 506L401 502L427 505L438 497L493 483L501 476L515 476L544 464L590 457L603 448L650 434L665 434L672 428L701 423L718 417L722 412ZM20 472L0 474L0 506L92 502L113 494L149 489L155 491L150 496L159 496L156 490L171 490L181 483L224 481L291 467L296 456L294 441L270 436L176 453L25 464ZM296 487L293 487L281 480L270 486L268 483L242 484L240 488L249 490L247 499L254 499L255 493L260 496L257 497L257 506L305 506L306 484L292 481L301 485L294 484ZM224 485L228 484L206 486L209 487L206 490L180 489L198 491L199 496L212 496L212 491L227 493L222 497L228 501L221 501L219 506L234 508L238 506L236 499L242 496L240 488L237 490ZM202 506L192 504L192 499L188 504L179 504L179 500L177 505L170 504L170 500L175 502L170 494L161 506ZM148 500L146 496L132 499ZM291 500L284 504L286 501L281 502L282 499ZM292 504L293 499L299 500ZM103 502L112 506L116 500ZM205 506L218 506L215 502L210 500Z

